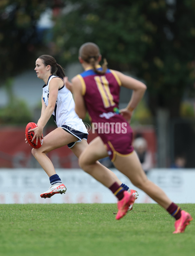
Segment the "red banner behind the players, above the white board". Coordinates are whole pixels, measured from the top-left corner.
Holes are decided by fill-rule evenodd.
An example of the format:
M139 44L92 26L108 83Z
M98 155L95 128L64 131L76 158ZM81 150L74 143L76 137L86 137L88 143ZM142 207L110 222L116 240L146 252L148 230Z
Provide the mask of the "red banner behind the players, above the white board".
M45 134L52 129L55 127L45 129ZM88 133L89 143L97 134L93 133L92 129ZM156 137L153 129L139 129L136 133L142 133L148 142L148 149L155 157ZM31 149L31 146L25 143L25 127L4 126L0 128L0 168L40 168L31 154ZM78 159L68 146L53 150L47 155L55 168L79 168Z

